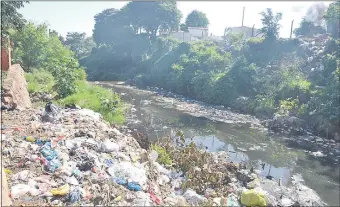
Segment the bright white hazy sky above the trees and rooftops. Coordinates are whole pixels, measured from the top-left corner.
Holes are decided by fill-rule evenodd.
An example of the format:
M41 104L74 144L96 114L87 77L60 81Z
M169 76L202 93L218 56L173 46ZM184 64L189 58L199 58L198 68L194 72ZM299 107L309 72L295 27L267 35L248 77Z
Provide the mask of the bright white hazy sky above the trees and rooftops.
M242 24L242 10L245 7L244 26L261 28L261 15L266 8L274 12L282 12L281 37L289 37L291 22L294 28L306 15L307 9L315 1L178 1L177 7L183 14L182 22L192 10L207 14L209 33L222 36L226 27L236 27ZM319 2L320 3L320 2ZM331 2L323 2L329 5ZM31 1L19 9L23 16L34 23L48 23L49 28L56 30L62 36L67 32L85 32L92 35L94 16L104 9L120 9L127 1Z

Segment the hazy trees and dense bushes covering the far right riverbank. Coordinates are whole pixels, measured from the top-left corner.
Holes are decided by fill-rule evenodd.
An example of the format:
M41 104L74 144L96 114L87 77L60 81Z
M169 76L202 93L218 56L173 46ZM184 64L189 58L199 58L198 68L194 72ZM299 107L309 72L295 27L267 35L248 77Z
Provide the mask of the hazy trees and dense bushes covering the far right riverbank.
M141 15L144 7L150 10L139 21L136 12ZM176 2L130 2L95 16L96 46L79 61L89 80L130 79L140 87L166 88L260 117L297 116L320 132L340 123L338 9L334 2L323 14L330 36L317 22L304 19L295 30L298 38L279 38L284 14L266 9L262 37L229 33L223 41L180 42L155 35L186 30L179 26ZM191 25L208 24L196 16Z

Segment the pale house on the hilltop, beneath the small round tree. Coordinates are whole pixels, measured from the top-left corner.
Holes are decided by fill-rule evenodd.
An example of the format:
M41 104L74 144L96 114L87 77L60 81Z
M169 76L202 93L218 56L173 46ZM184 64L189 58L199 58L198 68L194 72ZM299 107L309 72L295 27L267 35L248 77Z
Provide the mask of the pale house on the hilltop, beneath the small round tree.
M169 31L161 31L160 35L170 36L179 41L189 42L189 41L198 41L200 39L205 39L208 37L209 30L205 27L188 27L188 31L177 31L177 32L169 32Z

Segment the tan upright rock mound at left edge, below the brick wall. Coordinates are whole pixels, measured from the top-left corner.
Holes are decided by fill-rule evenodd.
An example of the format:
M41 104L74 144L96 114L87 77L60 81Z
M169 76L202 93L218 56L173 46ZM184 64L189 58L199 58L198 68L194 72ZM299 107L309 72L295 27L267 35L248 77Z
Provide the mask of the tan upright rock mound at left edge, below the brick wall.
M4 93L1 96L1 105L7 105L12 109L31 107L24 70L19 64L9 68L2 87Z

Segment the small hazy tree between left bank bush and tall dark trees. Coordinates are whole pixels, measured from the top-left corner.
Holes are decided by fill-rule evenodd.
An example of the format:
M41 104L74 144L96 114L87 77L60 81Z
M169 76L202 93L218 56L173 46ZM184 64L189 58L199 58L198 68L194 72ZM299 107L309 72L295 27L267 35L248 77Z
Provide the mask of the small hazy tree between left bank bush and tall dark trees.
M65 45L76 54L77 58L82 58L90 54L95 46L91 37L86 38L85 33L68 32L66 35Z

